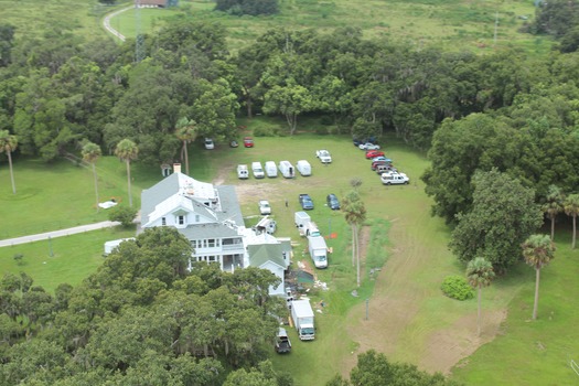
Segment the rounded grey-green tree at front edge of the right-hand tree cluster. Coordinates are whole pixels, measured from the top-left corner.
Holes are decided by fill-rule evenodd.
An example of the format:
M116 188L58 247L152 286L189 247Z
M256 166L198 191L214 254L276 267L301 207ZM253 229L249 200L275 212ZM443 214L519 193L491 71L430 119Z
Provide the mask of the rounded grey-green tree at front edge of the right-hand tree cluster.
M461 261L484 257L504 270L518 260L518 246L543 224L535 191L496 169L473 178L472 211L457 215L450 249Z

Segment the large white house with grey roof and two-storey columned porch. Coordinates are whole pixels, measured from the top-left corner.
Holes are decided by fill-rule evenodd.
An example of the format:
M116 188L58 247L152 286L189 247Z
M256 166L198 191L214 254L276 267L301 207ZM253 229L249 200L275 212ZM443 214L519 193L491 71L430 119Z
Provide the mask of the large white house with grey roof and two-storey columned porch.
M271 293L282 294L286 242L245 227L235 186L201 182L175 168L141 193L141 228L154 226L179 229L194 248L193 260L218 264L228 272L249 266L271 270L282 281Z

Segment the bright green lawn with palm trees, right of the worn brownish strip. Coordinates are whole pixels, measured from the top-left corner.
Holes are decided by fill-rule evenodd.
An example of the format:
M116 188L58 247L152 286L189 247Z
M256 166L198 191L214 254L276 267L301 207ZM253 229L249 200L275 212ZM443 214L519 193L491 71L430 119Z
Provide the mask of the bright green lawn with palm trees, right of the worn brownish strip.
M579 361L579 253L570 249L570 229L556 233L557 253L540 274L539 308L530 320L535 271L521 264L510 276L522 285L508 304L501 334L453 369L468 385L576 385L569 362ZM484 294L487 296L486 293Z

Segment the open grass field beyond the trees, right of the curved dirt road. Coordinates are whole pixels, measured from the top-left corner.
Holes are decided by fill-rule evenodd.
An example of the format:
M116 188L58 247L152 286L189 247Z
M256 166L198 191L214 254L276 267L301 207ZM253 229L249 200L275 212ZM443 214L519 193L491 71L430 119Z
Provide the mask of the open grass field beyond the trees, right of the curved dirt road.
M518 46L534 54L546 53L550 42L544 37L518 33L524 21L533 17L533 1L362 1L312 0L281 1L281 12L269 17L234 17L214 12L208 0L181 1L180 11L142 9L137 18L129 10L111 19L111 25L126 36L135 36L136 20L141 31L154 31L163 20L184 12L194 20L219 22L226 26L229 49L255 41L268 30L280 28L332 31L336 28L360 28L366 37L385 36L412 45L436 44L455 50L462 47L484 52L495 46Z

